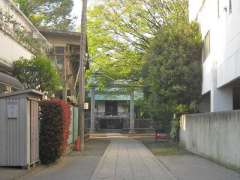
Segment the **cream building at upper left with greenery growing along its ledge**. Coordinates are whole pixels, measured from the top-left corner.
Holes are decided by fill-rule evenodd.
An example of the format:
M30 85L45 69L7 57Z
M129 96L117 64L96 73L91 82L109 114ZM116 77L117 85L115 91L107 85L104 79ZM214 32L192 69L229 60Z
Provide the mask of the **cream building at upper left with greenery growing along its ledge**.
M13 62L30 59L48 47L47 40L11 0L0 0L0 93L21 84L11 77Z

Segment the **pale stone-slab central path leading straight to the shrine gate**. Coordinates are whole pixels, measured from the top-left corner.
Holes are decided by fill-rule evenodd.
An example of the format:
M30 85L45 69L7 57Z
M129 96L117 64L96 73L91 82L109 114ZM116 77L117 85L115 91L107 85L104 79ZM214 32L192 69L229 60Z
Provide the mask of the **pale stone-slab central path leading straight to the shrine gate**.
M112 140L91 180L176 180L139 141Z

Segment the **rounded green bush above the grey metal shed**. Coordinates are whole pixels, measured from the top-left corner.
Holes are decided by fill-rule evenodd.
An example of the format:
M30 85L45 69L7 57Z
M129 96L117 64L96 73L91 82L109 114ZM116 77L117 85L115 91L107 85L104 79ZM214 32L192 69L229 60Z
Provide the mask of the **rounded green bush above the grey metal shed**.
M61 88L61 80L51 60L44 55L14 62L13 74L25 88L54 93Z

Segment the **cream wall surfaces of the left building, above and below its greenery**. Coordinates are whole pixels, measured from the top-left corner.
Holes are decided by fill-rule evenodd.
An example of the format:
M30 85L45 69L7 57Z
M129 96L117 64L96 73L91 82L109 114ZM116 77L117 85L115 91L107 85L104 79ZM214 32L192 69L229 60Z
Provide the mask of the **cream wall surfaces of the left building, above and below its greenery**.
M29 33L29 36L37 38L39 41L42 41L43 44L46 43L46 39L39 33L35 26L30 22L29 19L16 7L16 5L11 0L0 0L0 11L5 15L12 17L11 20L19 23L24 31ZM2 15L1 15L2 16ZM3 18L2 16L1 18ZM2 19L0 20L2 23ZM15 28L11 23L9 24L9 31L15 31ZM1 24L4 26L4 24ZM20 27L18 27L20 28ZM26 49L21 43L18 42L16 38L7 34L11 32L5 32L0 28L0 62L11 67L12 63L18 60L20 57L31 58L33 54Z

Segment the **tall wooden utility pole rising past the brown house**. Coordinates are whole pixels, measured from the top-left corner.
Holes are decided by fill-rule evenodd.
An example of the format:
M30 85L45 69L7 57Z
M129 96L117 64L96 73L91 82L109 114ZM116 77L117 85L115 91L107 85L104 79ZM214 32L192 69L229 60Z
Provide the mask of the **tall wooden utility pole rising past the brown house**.
M80 137L81 151L84 150L84 103L85 103L85 59L87 38L87 0L82 0L80 59L79 59L79 96L78 96L78 136Z

